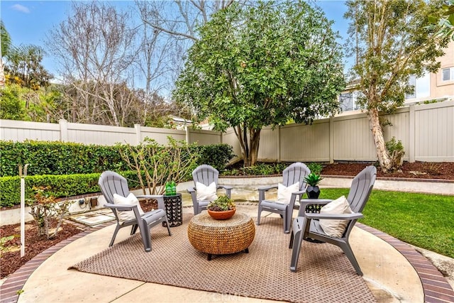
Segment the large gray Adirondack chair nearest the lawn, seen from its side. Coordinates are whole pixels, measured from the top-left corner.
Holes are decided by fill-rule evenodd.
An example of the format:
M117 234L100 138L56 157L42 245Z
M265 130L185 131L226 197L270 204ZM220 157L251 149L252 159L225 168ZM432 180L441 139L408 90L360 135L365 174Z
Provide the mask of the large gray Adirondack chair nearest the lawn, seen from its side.
M313 238L326 243L334 244L340 247L345 255L347 256L350 263L355 268L358 275L362 275L360 265L353 254L353 250L350 248L348 243L348 236L350 231L355 225L356 221L363 217L361 214L362 209L369 199L370 192L375 183L377 177L377 168L375 166L367 166L358 175L353 178L350 192L348 192L348 203L353 214L309 214L304 213L306 204L326 204L326 199L304 199L301 202L299 214L297 219L294 219L292 226L292 236L290 236L289 248L292 248L292 260L290 261L290 270L292 272L297 271L297 264L299 258L299 252L301 250L301 241L304 238ZM307 201L307 200L310 200ZM329 200L328 200L329 201ZM328 236L321 228L317 219L343 219L350 220L345 228L343 236L341 238Z

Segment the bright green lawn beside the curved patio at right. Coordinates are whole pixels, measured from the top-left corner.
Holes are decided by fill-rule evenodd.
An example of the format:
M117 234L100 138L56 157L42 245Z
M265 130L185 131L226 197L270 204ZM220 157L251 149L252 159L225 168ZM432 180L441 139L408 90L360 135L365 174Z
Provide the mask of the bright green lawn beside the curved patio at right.
M322 189L321 199L348 195L348 189ZM454 258L453 196L372 190L359 222L401 241Z

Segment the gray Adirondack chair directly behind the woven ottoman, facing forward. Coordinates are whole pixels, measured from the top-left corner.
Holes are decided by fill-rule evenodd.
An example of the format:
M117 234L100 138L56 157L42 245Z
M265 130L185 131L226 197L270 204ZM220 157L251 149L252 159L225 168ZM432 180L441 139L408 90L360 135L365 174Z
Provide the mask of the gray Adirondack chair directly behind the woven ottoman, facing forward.
M192 178L194 179L194 187L189 187L187 189L187 192L191 194L192 198L192 206L194 206L194 215L200 214L201 211L206 209L206 206L211 202L211 201L205 201L205 200L197 200L197 193L196 193L196 182L200 182L201 184L204 184L205 186L209 186L212 182L216 184L216 190L217 189L225 189L226 190L226 196L231 197L231 192L232 192L232 187L228 185L220 185L218 184L218 177L219 177L219 172L216 170L216 168L212 167L211 165L207 164L202 164L196 167L195 170L192 171Z

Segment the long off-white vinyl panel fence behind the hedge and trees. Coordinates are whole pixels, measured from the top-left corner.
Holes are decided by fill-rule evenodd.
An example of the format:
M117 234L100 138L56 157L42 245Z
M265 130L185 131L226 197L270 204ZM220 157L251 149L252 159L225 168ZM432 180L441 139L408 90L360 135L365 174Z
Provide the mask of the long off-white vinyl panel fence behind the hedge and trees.
M405 106L383 116L391 124L384 128L385 141L393 136L404 145L409 162L454 162L454 101ZM232 129L226 133L187 128L134 128L68 123L37 123L0 120L4 141L63 141L84 144L136 145L145 137L167 144L167 136L200 145L226 143L236 155L240 146ZM367 116L348 111L312 125L288 124L274 130L266 127L260 136L259 160L282 162L375 161L377 155Z

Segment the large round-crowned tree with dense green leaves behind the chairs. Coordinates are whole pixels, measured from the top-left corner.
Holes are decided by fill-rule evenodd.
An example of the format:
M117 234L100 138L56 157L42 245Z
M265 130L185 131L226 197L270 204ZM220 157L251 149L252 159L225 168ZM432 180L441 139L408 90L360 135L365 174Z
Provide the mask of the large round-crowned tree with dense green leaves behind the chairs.
M262 127L338 111L341 48L319 9L304 1L232 4L198 31L174 98L217 129L232 127L245 165L257 161Z

